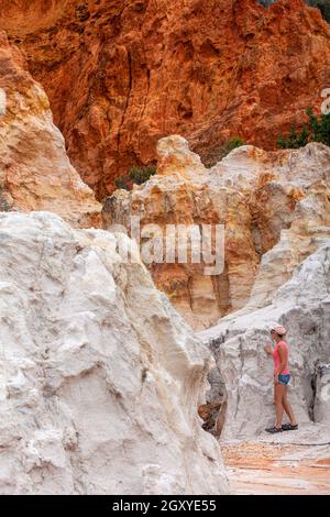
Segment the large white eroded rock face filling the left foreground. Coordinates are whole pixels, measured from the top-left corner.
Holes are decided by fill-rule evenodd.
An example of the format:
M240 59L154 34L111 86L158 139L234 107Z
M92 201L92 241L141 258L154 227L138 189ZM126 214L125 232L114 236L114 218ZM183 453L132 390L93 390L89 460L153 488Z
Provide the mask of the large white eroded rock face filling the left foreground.
M0 493L222 494L210 354L124 235L0 213Z

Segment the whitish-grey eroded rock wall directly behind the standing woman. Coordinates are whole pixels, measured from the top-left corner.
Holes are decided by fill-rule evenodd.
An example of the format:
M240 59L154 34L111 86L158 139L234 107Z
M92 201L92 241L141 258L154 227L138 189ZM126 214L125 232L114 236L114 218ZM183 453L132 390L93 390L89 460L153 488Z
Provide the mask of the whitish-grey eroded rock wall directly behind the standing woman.
M276 322L288 329L289 398L302 430L329 424L330 402L330 241L310 255L258 310L246 307L200 333L217 358L227 389L223 439L245 439L274 425L273 361L264 346ZM309 440L317 429L309 430ZM329 439L329 428L328 437Z

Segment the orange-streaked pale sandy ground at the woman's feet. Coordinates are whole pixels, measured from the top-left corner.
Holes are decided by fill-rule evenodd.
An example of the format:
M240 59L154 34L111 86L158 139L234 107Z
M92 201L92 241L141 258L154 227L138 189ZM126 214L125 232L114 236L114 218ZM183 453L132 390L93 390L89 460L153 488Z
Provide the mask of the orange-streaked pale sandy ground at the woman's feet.
M330 429L298 431L221 443L230 488L250 495L329 495Z

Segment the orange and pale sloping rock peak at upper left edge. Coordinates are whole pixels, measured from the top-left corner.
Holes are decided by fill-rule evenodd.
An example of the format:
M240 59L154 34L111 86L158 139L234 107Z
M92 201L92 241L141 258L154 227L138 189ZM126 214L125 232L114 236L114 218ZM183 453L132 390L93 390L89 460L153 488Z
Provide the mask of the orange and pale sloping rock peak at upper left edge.
M50 210L100 226L100 205L72 166L48 98L0 33L0 210Z

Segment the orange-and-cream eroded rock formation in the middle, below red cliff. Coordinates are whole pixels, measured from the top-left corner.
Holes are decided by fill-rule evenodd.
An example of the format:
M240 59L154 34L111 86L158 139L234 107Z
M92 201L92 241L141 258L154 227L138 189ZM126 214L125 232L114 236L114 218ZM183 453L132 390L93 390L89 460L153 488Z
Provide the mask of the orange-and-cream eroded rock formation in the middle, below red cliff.
M304 258L330 235L330 150L233 151L211 169L174 135L158 143L158 174L103 209L105 228L156 223L166 250L168 224L224 224L224 268L205 275L205 263L152 264L157 287L197 329L249 304L264 307ZM320 242L319 242L320 241ZM213 252L216 252L213 246ZM250 299L251 297L251 299Z

